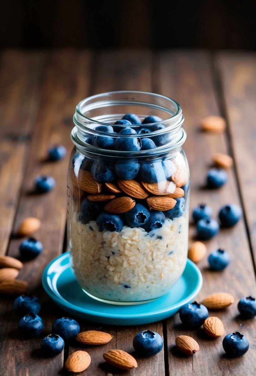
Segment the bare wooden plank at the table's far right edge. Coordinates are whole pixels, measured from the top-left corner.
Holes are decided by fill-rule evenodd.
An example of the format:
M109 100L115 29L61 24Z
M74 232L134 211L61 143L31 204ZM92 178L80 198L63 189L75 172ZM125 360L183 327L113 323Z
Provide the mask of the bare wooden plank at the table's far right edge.
M224 111L239 188L256 262L256 54L219 53L216 64L221 76Z

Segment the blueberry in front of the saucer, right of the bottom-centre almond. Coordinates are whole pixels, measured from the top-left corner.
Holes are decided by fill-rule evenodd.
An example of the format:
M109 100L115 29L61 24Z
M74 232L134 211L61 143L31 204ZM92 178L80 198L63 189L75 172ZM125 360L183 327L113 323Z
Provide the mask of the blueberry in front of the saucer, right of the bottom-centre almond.
M163 338L151 330L142 331L133 338L134 350L142 356L152 356L163 348Z

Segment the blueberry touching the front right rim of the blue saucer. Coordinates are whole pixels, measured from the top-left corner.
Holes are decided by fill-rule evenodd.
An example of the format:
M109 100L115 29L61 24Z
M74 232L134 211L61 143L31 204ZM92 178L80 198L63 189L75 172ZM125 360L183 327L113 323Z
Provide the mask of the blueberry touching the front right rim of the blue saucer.
M197 302L185 304L179 310L181 322L188 329L199 328L208 316L208 309Z

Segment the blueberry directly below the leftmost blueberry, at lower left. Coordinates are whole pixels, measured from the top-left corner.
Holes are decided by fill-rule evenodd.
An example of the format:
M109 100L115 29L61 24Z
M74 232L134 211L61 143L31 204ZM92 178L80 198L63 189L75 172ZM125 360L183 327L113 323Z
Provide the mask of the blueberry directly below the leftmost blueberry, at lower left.
M21 317L18 322L18 329L24 337L36 337L44 329L44 321L40 316L29 313Z

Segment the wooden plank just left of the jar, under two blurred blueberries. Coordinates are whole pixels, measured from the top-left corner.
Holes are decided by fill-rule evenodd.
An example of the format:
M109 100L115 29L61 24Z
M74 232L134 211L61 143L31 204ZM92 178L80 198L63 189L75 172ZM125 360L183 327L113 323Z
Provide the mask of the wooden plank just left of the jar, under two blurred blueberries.
M62 253L66 223L66 171L68 156L56 163L45 162L51 144L63 144L71 152L73 147L70 131L72 115L77 102L87 96L89 87L90 53L75 51L52 52L44 75L42 99L35 133L29 154L21 200L14 228L21 220L35 216L42 222L35 237L44 244L44 251L35 260L24 264L19 277L29 282L31 290L43 297L42 318L45 321L43 335L51 332L53 321L63 315L56 309L41 288L41 275L51 259ZM49 174L56 180L56 188L48 194L32 194L34 179L38 174ZM20 240L12 239L9 255L17 257ZM10 313L11 312L11 313ZM2 299L0 364L1 375L56 375L63 367L63 353L51 359L41 355L40 338L21 340L17 330L17 318L12 313L12 300ZM11 320L10 320L11 318Z

